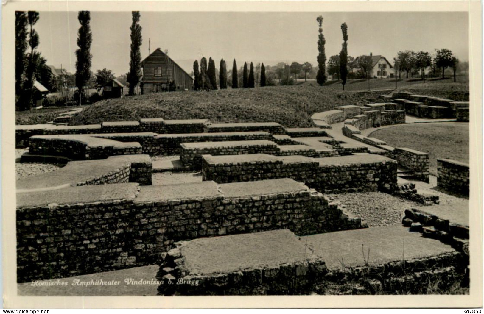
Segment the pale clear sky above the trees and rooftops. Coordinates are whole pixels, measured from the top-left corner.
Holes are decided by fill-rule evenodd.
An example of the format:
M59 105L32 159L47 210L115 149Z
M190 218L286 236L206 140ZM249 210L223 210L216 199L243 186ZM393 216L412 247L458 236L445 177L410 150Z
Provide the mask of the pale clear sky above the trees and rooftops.
M232 68L244 61L297 61L317 65L318 15L323 16L326 56L341 50L341 24L348 25L348 54L383 55L391 63L400 50L447 48L469 60L466 12L140 12L141 58L160 47L188 73L194 60L221 58ZM129 70L131 12L91 11L92 67L116 76ZM75 73L77 12L40 12L34 28L47 64Z

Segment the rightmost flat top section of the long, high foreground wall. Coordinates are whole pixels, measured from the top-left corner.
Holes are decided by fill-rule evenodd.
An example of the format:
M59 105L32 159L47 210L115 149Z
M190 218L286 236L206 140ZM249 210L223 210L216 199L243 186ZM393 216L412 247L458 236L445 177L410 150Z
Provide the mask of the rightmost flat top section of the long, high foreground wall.
M224 183L219 184L219 189L228 198L308 191L304 184L293 179Z

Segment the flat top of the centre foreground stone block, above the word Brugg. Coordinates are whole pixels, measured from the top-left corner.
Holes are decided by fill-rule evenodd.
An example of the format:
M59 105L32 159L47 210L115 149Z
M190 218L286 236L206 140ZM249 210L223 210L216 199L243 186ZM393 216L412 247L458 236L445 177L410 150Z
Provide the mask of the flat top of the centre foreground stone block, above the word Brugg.
M180 251L190 275L277 268L302 263L309 255L304 243L287 229L194 239Z

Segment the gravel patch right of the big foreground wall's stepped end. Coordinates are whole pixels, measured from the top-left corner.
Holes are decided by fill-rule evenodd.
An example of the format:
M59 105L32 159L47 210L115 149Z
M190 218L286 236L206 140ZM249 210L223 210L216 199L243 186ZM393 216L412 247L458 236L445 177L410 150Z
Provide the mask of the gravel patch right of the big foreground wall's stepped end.
M328 199L340 203L343 211L361 218L369 227L400 225L405 209L418 204L381 192L327 194Z

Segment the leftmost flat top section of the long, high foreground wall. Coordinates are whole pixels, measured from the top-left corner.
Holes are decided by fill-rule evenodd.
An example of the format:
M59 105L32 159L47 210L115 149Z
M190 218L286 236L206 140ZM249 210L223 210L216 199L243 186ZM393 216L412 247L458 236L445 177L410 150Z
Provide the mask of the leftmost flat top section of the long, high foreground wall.
M58 190L17 193L17 209L42 207L48 204L93 203L124 198L135 198L138 183L70 186Z

